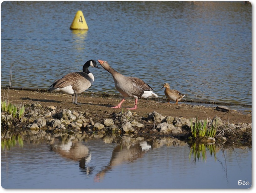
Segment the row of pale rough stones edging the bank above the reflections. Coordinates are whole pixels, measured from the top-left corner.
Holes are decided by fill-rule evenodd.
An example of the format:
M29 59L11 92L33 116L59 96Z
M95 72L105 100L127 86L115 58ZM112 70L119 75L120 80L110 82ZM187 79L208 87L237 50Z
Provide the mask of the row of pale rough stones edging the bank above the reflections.
M29 130L44 130L53 133L68 133L75 134L78 132L105 134L112 133L129 133L129 134L150 134L150 135L185 135L191 130L191 120L196 121L196 118L185 119L175 118L171 116L163 116L157 112L149 113L147 117L138 117L136 112L126 111L112 114L111 117L106 115L102 120L95 122L94 117L90 117L86 112L76 112L69 109L58 110L55 106L42 108L40 104L31 105L33 108L28 108L25 111L25 116L19 120L20 123L14 125L23 125ZM87 118L86 118L87 117ZM89 117L89 118L88 118ZM5 117L2 116L4 120ZM218 126L223 126L222 120L219 117L214 117L209 122L216 122ZM9 123L8 124L12 124ZM225 127L246 132L251 130L252 124L228 124Z

